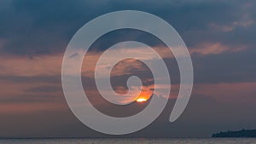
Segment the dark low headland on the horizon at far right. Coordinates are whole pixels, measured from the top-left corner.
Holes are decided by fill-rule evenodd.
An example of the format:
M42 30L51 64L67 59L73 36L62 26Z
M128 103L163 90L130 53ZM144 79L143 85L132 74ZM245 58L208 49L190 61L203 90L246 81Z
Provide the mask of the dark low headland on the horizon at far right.
M256 137L256 130L221 131L212 137Z

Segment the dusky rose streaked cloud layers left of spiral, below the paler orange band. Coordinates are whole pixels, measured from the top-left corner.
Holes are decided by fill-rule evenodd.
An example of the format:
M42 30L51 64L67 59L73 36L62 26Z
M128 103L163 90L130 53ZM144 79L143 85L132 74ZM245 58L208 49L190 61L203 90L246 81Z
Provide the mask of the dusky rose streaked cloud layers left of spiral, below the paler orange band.
M51 78L1 78L0 115L55 111L65 107L61 82L45 79Z

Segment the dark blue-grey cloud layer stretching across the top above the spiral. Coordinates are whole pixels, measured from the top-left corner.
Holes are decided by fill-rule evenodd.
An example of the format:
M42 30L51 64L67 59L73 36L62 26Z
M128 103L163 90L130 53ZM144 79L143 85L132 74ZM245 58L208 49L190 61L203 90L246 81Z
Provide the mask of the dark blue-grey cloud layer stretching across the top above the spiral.
M143 1L26 0L21 2L15 0L3 1L1 4L2 52L16 55L48 55L63 52L69 39L86 22L101 14L123 9L137 9L159 15L177 29L189 48L205 41L232 45L234 39L236 44L254 44L255 31L252 30L255 30L255 26L240 24L255 18L255 10L253 10L255 3L250 1L144 3ZM234 11L239 12L234 13ZM233 26L236 21L240 23ZM233 26L234 30L222 32L211 25Z

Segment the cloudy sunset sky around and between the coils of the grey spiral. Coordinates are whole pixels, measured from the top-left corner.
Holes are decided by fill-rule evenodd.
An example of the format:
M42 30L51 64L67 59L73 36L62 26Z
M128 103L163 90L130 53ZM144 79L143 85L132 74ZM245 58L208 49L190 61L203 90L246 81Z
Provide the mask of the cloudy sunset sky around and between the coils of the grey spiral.
M67 44L80 27L117 10L140 10L166 20L183 38L194 66L189 105L170 123L180 79L177 61L166 45L147 32L130 29L97 39L84 57L82 81L99 111L127 117L147 105L113 106L97 92L93 79L96 60L115 43L147 43L166 62L172 79L171 94L160 117L143 130L121 136L207 137L221 130L256 129L255 6L255 1L247 0L0 1L0 137L113 136L91 130L73 115L61 87L61 63ZM138 52L145 60L152 58L144 48L123 50ZM148 67L133 59L113 67L113 89L125 94L126 80L132 75L142 79L147 98L153 86L166 89L164 84L154 85ZM122 100L131 101L131 97Z

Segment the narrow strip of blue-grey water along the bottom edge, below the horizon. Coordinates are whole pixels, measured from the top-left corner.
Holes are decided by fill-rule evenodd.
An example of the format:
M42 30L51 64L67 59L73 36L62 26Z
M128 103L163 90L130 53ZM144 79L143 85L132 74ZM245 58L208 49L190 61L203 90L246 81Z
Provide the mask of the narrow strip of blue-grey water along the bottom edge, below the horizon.
M256 138L170 138L170 139L2 139L4 144L256 144Z

